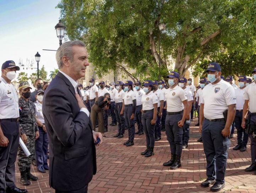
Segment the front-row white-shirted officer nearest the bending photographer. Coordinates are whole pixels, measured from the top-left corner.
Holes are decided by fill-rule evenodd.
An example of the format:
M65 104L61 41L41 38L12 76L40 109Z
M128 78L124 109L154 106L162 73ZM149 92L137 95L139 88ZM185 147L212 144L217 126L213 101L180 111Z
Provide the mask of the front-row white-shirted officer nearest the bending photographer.
M118 81L115 83L115 88L118 90L118 93L115 95L115 115L116 115L116 121L118 122L118 133L114 136L117 138L123 138L124 137L124 131L125 131L125 118L124 114L121 114L122 110L122 101L125 95L125 92L123 90L124 83L122 81Z

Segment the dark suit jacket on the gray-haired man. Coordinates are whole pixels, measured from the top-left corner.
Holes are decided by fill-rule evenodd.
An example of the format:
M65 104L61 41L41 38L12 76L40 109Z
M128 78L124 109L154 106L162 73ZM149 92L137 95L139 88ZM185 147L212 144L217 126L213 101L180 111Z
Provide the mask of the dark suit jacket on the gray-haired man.
M96 150L89 117L80 111L71 82L60 72L44 93L49 139L49 184L59 191L80 189L96 173Z

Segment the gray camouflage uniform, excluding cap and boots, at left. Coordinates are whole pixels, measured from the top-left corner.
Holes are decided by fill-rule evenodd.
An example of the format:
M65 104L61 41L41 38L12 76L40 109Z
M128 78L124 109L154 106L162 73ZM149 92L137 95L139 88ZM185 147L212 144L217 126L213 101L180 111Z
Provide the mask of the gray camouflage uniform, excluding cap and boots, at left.
M32 162L34 149L35 149L35 137L36 131L38 130L38 125L36 122L36 106L30 100L26 101L22 97L19 99L19 106L20 106L20 129L21 135L23 133L26 134L28 140L25 144L31 153L28 157L24 153L21 147L18 149L18 166L20 172L26 171L29 168Z

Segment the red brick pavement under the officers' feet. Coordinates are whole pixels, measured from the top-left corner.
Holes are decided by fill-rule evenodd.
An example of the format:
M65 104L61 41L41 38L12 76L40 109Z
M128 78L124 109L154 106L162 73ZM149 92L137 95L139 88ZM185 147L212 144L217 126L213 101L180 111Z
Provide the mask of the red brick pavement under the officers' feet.
M195 125L195 121L192 125ZM197 142L200 136L198 127L191 126L189 148L183 151L182 167L177 170L169 170L169 167L162 165L170 159L170 147L164 132L162 140L155 144L155 155L145 158L140 155L145 150L145 135L136 135L135 145L125 147L122 143L127 140L127 130L122 139L113 138L116 131L117 126L109 126L107 138L97 147L97 174L89 184L89 193L209 192L209 187L200 187L200 183L206 179L206 159L202 143ZM256 175L244 171L251 164L250 146L247 145L247 151L240 152L232 150L235 145L236 134L228 153L226 185L220 192L256 193ZM40 173L36 167L33 170L32 173L39 180L24 187L19 183L20 173L16 165L16 185L28 189L30 193L54 192L48 184L48 173Z

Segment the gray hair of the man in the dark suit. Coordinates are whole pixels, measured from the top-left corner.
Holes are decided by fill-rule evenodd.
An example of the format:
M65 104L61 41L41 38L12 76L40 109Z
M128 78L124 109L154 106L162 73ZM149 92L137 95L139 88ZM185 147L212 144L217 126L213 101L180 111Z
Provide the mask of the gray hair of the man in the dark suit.
M74 45L85 47L85 43L83 43L80 40L75 40L75 41L65 42L58 48L56 52L56 61L59 69L62 68L64 65L62 62L62 57L66 56L70 59L71 62L73 61L74 53L72 50L72 46Z

